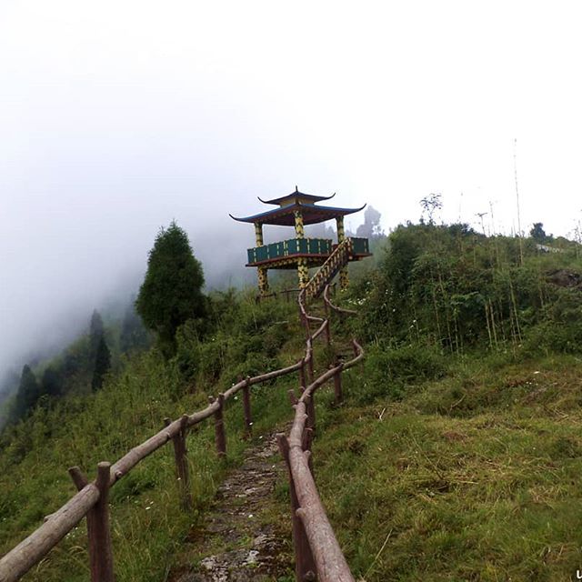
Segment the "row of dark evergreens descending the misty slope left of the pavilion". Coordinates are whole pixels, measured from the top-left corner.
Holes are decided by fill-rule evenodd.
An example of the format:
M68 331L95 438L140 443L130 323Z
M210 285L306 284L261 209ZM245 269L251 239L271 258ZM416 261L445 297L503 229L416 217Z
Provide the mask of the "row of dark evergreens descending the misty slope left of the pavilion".
M148 266L139 294L127 307L123 321L105 329L103 317L95 309L88 332L45 366L26 364L20 375L8 421L25 418L42 402L72 392L95 392L102 388L114 359L156 345L166 357L176 354L176 331L193 319L204 321L208 299L203 294L204 273L195 258L186 232L172 222L156 236L148 256ZM198 325L202 328L202 325Z

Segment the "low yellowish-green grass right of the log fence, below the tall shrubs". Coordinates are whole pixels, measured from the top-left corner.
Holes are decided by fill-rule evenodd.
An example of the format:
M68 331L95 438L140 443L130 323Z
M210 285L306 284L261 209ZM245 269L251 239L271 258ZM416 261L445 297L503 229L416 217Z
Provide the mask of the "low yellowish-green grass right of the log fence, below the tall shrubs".
M581 373L572 356L497 369L457 362L442 380L407 386L400 401L322 415L317 484L356 577L574 579ZM352 376L352 401L377 394L363 385Z

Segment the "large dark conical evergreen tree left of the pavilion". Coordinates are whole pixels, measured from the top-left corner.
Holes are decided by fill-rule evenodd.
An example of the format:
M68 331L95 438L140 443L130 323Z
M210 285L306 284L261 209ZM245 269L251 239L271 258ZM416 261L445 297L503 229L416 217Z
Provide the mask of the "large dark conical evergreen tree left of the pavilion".
M149 253L146 278L135 301L147 327L156 332L166 356L176 350L176 329L206 313L204 273L186 232L172 222L162 228Z

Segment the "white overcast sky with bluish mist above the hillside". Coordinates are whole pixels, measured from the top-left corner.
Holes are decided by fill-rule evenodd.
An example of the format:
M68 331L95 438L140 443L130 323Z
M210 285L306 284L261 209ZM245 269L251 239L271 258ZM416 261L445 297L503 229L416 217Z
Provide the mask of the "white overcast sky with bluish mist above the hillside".
M517 139L522 229L571 232L581 10L0 0L0 368L139 276L172 218L210 281L244 264L227 213L295 185L386 230L436 192L509 233Z

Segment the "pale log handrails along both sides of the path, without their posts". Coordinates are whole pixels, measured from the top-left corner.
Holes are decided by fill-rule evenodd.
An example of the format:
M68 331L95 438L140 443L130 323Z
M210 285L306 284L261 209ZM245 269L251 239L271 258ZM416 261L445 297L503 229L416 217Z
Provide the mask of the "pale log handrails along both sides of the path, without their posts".
M342 310L334 306L328 299L328 285L324 293L324 300L326 305L336 313L355 313L350 310ZM186 428L195 426L204 421L210 416L220 415L217 422L220 423L222 430L222 408L223 403L230 397L235 396L239 390L246 389L249 386L267 382L276 377L286 376L296 371L299 372L300 384L304 388L303 394L298 399L295 408L296 414L293 421L293 426L288 439L288 457L287 464L290 475L294 483L294 491L296 492L296 500L298 507L296 508L296 517L299 517L303 523L303 528L306 532L308 547L311 548L313 559L315 560L318 579L321 582L353 582L349 567L346 563L346 558L343 556L333 529L326 517L325 509L318 497L315 481L310 471L309 451L304 450L306 442L310 442L310 438L306 438L306 422L309 421L313 425L315 418L309 418L307 412L310 411L311 416L315 413L313 405L313 398L318 387L323 386L331 379L341 375L343 370L352 366L356 366L364 356L364 350L356 340L353 341L355 357L348 362L343 362L337 366L328 369L324 374L314 379L314 357L313 357L313 341L326 331L326 336L329 341L329 319L323 317L309 316L305 308L306 290L300 291L298 296L299 311L302 320L305 322L307 328L306 338L306 355L296 364L286 366L266 374L254 377L246 377L244 380L236 383L226 390L224 395L219 395L211 404L206 406L203 410L197 411L191 415L183 415L174 421L169 421L167 426L158 431L154 436L149 437L143 443L133 447L123 457L117 460L112 467L108 464L100 464L99 476L93 483L88 483L82 487L75 496L71 497L64 506L60 507L55 513L46 518L45 523L35 529L35 531L20 542L17 546L11 549L4 557L0 558L0 582L14 582L38 563L45 555L58 544L58 542L65 537L65 535L75 527L83 517L93 510L101 498L101 491L106 497L108 487L104 487L103 479L107 475L109 477L109 487L114 486L115 483L124 477L133 467L140 461L154 453L158 448L164 447L170 440L176 438L184 438L186 436ZM316 332L312 335L309 331L309 321L322 322ZM309 372L309 383L306 384L305 366ZM245 416L247 424L250 422L250 402L247 401L248 393L245 399ZM216 416L217 418L217 416ZM248 428L248 426L247 426ZM218 443L219 433L217 430L217 447L219 454L226 453L226 443L224 442L224 432L220 436L221 442ZM177 456L176 456L177 459ZM177 461L176 461L177 462ZM104 473L106 470L108 473ZM78 472L78 471L77 471ZM105 477L104 477L105 475ZM75 483L82 486L80 479L76 472L72 470L72 476ZM76 478L75 478L76 477ZM187 492L186 492L187 493ZM104 500L105 500L104 497ZM295 531L295 528L294 528ZM91 537L91 529L89 533ZM95 540L89 540L90 544L95 543ZM107 557L110 559L111 557ZM307 563L311 563L307 560ZM109 564L109 567L112 567ZM97 568L99 571L99 568ZM94 577L92 565L92 579Z

